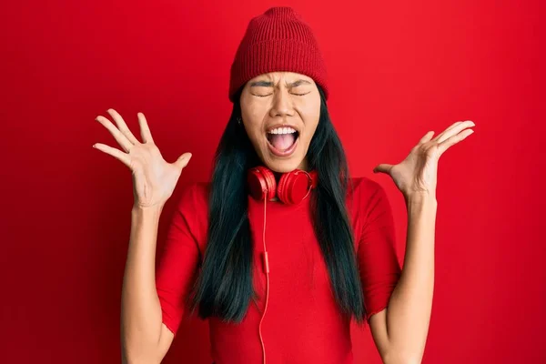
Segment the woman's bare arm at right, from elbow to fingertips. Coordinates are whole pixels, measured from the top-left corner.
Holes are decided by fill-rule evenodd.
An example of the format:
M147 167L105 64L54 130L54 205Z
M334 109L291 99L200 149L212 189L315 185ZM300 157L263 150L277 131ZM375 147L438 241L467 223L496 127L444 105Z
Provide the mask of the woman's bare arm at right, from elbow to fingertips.
M410 155L396 166L381 164L406 199L408 237L404 268L389 307L370 318L376 345L385 363L420 363L429 331L434 286L436 185L440 156L473 133L471 120L459 121L432 138L421 137Z

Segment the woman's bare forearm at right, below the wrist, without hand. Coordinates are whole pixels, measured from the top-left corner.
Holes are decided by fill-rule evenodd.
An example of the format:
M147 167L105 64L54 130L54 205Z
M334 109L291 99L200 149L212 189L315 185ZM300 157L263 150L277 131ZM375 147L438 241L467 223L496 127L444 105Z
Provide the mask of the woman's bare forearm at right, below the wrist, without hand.
M387 332L392 362L420 363L430 323L434 286L435 197L409 197L404 268L389 300ZM399 359L404 361L399 361Z

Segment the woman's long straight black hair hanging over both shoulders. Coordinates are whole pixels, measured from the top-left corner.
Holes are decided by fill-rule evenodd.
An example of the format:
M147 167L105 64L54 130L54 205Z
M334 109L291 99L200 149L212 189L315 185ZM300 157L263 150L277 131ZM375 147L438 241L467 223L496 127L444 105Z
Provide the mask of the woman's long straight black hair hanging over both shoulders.
M308 147L308 168L317 170L313 189L313 227L340 311L363 322L365 308L346 207L349 167L339 136L329 118L322 88L319 124ZM208 196L207 248L190 295L192 312L240 322L256 297L252 285L252 243L248 221L247 171L261 164L243 126L239 97L217 147Z

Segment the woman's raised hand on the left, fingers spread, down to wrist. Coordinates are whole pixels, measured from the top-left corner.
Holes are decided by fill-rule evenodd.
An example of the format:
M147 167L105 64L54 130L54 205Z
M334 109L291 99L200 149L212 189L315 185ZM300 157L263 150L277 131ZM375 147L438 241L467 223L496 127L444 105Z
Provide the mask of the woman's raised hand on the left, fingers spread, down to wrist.
M96 121L108 129L124 151L101 143L96 143L93 147L116 157L129 167L133 174L134 207L162 208L173 194L178 178L192 156L191 153L184 153L176 162L167 163L154 144L144 114L137 114L140 136L142 136L142 143L140 143L116 110L110 108L107 112L112 116L117 127L104 116L96 116Z

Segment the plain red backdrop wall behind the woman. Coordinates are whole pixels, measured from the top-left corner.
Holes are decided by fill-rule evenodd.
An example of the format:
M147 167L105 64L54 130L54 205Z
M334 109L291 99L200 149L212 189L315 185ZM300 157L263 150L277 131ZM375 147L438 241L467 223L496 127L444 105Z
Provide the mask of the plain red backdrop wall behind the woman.
M400 259L404 201L372 168L397 163L428 130L476 123L440 158L423 362L544 362L541 2L364 3L3 3L0 361L119 362L132 181L91 147L118 147L94 118L114 107L138 133L142 111L168 161L193 153L161 245L180 188L211 170L248 21L292 5L326 58L353 175L389 193ZM379 363L369 329L353 333L356 362ZM208 349L207 322L189 318L165 362L209 364Z

